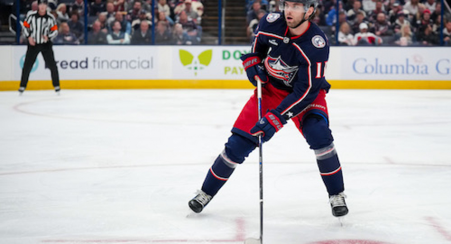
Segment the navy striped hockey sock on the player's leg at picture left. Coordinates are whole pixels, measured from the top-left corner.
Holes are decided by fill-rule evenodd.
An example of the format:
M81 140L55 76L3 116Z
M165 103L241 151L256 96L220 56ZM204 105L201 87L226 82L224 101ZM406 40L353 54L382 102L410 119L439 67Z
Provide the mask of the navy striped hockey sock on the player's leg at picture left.
M202 191L210 196L215 196L216 193L226 184L228 177L235 170L237 163L228 159L226 152L223 151L213 163L212 167L207 173Z

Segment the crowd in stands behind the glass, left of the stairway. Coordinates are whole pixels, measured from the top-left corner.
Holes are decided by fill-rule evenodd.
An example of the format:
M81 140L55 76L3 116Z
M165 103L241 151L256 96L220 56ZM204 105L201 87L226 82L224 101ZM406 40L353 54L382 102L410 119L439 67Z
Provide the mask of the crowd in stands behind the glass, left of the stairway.
M20 0L25 17L37 9L37 1ZM201 0L88 0L87 44L199 44L204 5ZM49 0L48 11L56 18L54 44L85 43L83 0ZM26 6L26 7L23 7ZM22 38L21 42L26 39Z

